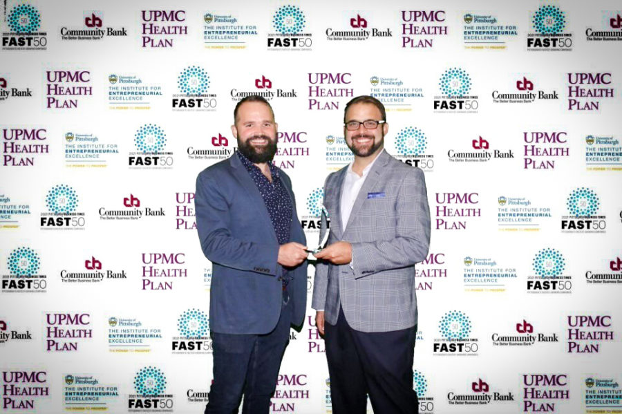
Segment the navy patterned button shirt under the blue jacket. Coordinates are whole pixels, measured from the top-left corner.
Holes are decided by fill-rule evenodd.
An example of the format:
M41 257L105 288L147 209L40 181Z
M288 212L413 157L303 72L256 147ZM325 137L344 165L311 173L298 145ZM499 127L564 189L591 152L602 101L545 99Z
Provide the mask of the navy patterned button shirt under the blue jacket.
M270 182L259 167L250 162L240 151L236 152L263 198L263 203L265 203L265 208L268 214L270 214L270 220L272 221L279 245L289 243L294 210L290 194L281 181L279 169L272 162L268 162L270 174L272 174L272 182Z

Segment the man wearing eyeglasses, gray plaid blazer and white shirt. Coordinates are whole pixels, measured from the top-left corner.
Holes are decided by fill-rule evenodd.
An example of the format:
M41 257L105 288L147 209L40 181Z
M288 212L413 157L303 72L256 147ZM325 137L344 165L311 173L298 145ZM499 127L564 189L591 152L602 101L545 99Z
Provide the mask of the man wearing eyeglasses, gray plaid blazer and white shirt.
M346 104L355 159L328 176L328 247L315 254L312 308L326 341L334 414L418 413L413 390L417 334L415 263L430 244L424 173L384 150L386 112L359 96Z

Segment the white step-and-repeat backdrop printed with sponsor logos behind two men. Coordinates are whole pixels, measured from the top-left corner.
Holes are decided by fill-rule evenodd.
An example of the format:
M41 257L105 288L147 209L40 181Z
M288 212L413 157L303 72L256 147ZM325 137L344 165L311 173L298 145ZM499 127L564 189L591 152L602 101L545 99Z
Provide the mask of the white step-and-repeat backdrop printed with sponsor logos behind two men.
M265 97L317 243L352 160L343 107L373 95L431 208L420 412L622 413L619 1L1 9L1 412L202 413L197 174L234 153L236 102ZM310 308L270 410L332 411Z

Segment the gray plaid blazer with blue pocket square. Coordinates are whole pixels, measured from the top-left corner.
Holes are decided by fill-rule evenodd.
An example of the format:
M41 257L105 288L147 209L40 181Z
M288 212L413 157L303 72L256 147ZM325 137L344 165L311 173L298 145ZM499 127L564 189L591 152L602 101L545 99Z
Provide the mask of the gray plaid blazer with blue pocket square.
M334 325L343 308L348 324L361 332L415 326L415 263L430 245L430 209L424 173L382 151L361 187L348 225L341 223L341 191L348 167L324 184L330 216L328 244L352 244L352 267L318 262L312 308ZM326 232L323 218L320 240ZM346 227L345 232L343 227Z

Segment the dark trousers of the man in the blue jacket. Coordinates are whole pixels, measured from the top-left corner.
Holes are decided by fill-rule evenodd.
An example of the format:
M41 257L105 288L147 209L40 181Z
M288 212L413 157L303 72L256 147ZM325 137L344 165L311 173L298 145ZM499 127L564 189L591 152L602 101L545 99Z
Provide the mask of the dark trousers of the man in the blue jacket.
M272 332L265 335L232 335L211 332L214 348L214 382L205 414L238 412L244 393L243 414L268 413L276 389L283 352L290 339L293 306L289 301Z

